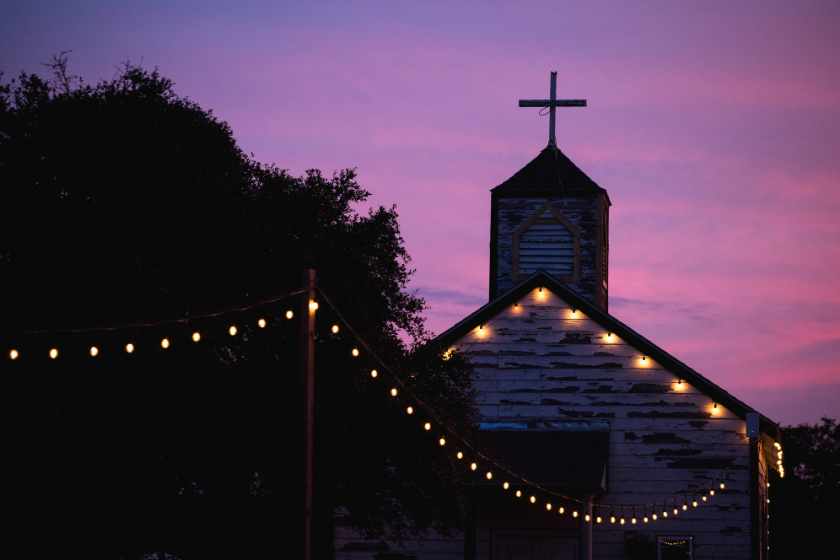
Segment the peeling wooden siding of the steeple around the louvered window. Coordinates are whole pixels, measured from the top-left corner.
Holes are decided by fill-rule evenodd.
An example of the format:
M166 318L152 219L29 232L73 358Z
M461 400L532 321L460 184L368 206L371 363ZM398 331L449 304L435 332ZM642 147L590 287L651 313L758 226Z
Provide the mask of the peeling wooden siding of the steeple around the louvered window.
M499 295L515 284L513 281L513 234L546 201L543 198L501 198L498 206L497 284ZM595 301L597 271L598 202L596 198L550 199L550 202L580 230L580 281L569 286L590 301ZM494 296L495 297L495 296Z

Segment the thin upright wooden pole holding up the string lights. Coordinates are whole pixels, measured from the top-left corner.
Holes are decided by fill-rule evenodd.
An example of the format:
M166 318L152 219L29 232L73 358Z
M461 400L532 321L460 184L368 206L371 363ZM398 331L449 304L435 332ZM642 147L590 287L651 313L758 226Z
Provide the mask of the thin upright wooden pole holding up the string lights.
M301 531L299 558L312 559L312 436L315 424L315 261L303 255L300 296L300 402L301 402Z

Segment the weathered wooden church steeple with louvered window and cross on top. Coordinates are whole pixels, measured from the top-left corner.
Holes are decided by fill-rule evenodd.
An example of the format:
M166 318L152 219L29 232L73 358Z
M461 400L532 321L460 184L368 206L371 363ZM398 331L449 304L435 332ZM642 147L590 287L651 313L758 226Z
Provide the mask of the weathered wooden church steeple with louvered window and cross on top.
M556 80L551 99L519 102L550 108L548 146L490 191L490 299L544 270L607 311L610 199L557 148L555 107L586 101L556 99Z

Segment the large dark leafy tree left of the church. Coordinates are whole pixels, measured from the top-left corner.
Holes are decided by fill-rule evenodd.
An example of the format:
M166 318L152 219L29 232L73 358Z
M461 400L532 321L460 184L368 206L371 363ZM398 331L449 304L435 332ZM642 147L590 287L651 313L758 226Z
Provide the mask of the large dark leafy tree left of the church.
M256 163L226 123L157 71L127 63L88 85L66 70L62 56L51 81L22 74L0 89L0 337L4 353L20 352L3 361L4 455L19 538L85 557L208 557L224 543L294 542L299 331L285 313L297 316L297 297L186 324L23 331L260 300L299 287L307 248L351 324L447 423L475 436L472 369L428 340L423 301L405 291L397 213L355 212L368 193L352 170L292 177ZM458 528L468 476L453 462L455 442L441 448L438 426L421 429L422 410L405 414L413 403L389 396L385 372L368 375L378 366L351 357L355 341L345 328L333 334L336 322L322 304L322 550L332 546L333 508L370 537Z

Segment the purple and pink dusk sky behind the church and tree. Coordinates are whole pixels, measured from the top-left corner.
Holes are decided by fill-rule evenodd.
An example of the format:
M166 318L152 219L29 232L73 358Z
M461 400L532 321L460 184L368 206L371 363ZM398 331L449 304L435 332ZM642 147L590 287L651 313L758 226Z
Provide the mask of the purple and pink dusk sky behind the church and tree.
M601 187L610 312L782 424L840 417L840 2L25 2L0 69L130 58L300 175L396 205L442 332L487 301L489 190L558 145Z

